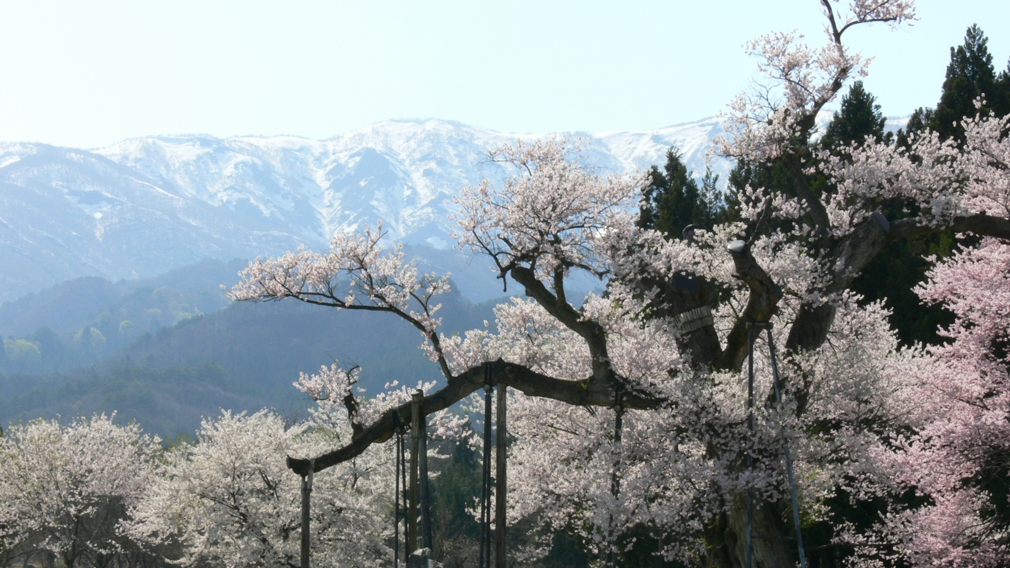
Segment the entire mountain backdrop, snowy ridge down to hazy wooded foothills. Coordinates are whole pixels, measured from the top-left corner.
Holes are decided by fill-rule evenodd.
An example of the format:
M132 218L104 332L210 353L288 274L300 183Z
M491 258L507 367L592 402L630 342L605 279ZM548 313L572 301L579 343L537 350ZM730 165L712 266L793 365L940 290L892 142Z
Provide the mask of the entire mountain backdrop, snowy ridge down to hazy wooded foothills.
M720 131L708 119L572 135L605 171L663 164L677 146L700 175ZM416 330L385 314L229 305L217 285L236 280L244 262L233 259L324 249L334 232L381 219L424 270L453 274L445 330L480 326L492 302L475 301L502 295L501 281L487 259L448 248L446 202L460 186L506 175L488 150L534 137L426 120L326 140L0 144L0 301L20 297L0 305L0 336L9 336L0 343L0 423L118 410L172 435L218 407L298 413L306 401L291 381L334 357L362 365L372 392L435 378ZM727 165L714 169L724 180Z

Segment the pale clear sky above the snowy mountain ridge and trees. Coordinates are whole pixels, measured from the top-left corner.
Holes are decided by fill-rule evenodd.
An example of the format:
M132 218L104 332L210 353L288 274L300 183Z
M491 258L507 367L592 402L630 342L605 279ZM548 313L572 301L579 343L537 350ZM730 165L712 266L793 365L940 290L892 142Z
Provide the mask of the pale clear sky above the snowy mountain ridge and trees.
M502 131L647 129L721 111L754 77L741 44L822 38L818 0L10 2L0 140L92 148L144 134L314 138L388 118ZM889 115L934 105L965 28L998 70L1010 1L921 0L858 30Z

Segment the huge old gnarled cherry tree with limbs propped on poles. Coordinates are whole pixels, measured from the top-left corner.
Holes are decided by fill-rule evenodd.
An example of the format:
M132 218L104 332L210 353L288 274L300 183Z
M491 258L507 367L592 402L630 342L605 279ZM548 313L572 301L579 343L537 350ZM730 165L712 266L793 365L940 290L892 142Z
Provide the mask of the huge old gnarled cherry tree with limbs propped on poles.
M784 520L784 442L792 449L808 522L830 522L824 502L838 491L869 501L915 485L956 502L941 498L936 508L895 509L887 527L933 523L942 532L952 527L943 524L944 514L960 515L965 527L981 526L972 522L985 520L981 492L944 492L956 476L937 478L926 489L922 468L897 475L902 456L914 461L929 441L940 440L939 434L907 441L897 434L940 429L923 418L924 406L943 404L924 398L924 389L942 386L925 379L929 365L946 362L951 373L961 372L958 365L977 366L957 359L969 340L953 329L953 352L899 350L887 311L858 306L848 288L897 240L950 228L988 236L987 247L1010 239L1007 124L968 121L963 147L926 132L910 150L867 139L841 153L844 158L813 156L817 114L846 80L866 72L866 60L844 45L845 32L914 18L908 0L818 3L826 21L822 48L808 48L796 33L748 45L768 82L732 103L718 148L730 158L779 161L789 183L745 188L740 221L667 241L634 222L644 174L601 174L578 144L520 143L491 155L514 168L514 177L502 186L464 188L457 197L460 246L489 256L503 281L518 283L525 295L498 306L494 325L441 334L437 296L448 289L446 277L421 274L395 246L384 251L381 226L339 234L327 253L258 260L243 271L232 298L295 298L398 315L420 332L422 348L444 376L440 388L425 387L424 413L480 389L490 365L491 380L514 393L510 518L532 516L543 527L573 531L601 555L621 554L648 538L669 558L742 566L749 489L756 500L753 533L761 537L753 542L755 565L795 565L792 527ZM814 175L824 176L829 189L815 189ZM917 213L886 218L883 205L895 199ZM937 268L927 297L939 297L928 294L938 293L931 290L940 289L944 270ZM600 277L606 294L570 298L568 279L577 271ZM971 318L963 320L966 334L974 329ZM754 324L771 330L753 361L759 404L751 433L743 371ZM768 338L781 348L782 404L773 402ZM1000 357L979 361L1005 365ZM993 388L1005 393L1002 384ZM387 440L397 418L409 421L409 405L394 393L380 394L382 404L362 411L368 404L358 394L343 386L333 392L352 434L314 462L295 460L300 474L354 460ZM999 403L988 403L999 416ZM965 466L961 473L971 472ZM875 534L836 529L837 544L865 552L858 558L871 564L883 561L871 554L880 550L884 537L878 537L894 534L884 526ZM979 545L992 530L972 531L979 537L971 542L957 544L949 535L913 539L895 554L916 561L941 546L979 549L979 558L1002 554ZM944 538L946 544L936 544Z

